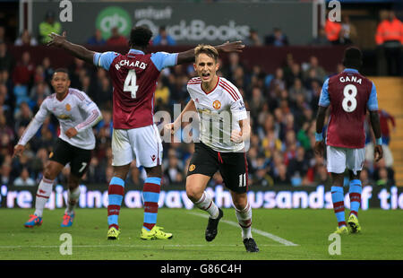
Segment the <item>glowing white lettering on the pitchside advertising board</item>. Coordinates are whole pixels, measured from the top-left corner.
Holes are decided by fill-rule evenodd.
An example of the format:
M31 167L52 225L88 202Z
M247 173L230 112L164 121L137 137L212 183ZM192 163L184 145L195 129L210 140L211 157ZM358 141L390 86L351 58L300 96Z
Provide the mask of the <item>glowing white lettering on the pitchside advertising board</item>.
M107 189L103 186L86 187L81 185L79 206L81 208L106 208ZM102 189L101 189L102 188ZM184 187L183 187L184 188ZM6 187L0 188L0 204L2 208L32 208L35 203L37 187ZM187 198L185 190L164 190L159 195L159 207L192 209L193 203ZM208 187L206 191L213 197L219 207L232 207L229 191L225 187ZM345 189L344 203L349 208L348 190ZM332 209L330 188L318 187L264 187L250 188L249 203L253 208L265 209ZM67 191L61 185L56 185L46 204L48 209L64 207ZM141 190L130 190L124 194L123 206L141 208ZM384 210L403 209L403 188L401 187L372 187L363 188L361 209L382 208Z

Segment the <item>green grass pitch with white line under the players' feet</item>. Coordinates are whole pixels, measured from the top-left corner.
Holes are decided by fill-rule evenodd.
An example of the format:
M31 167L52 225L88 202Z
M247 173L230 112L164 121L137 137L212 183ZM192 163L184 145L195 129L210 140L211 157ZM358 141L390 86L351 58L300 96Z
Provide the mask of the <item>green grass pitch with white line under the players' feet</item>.
M341 237L341 255L330 255L336 228L331 210L253 210L253 238L261 252L245 252L234 209L224 209L216 239L207 242L206 213L159 209L170 240L141 240L142 209L122 209L119 240L107 240L107 209L77 209L73 227L61 228L63 209L46 210L42 226L23 227L33 210L0 209L0 259L61 260L402 260L403 211L360 211L360 234ZM72 255L61 255L63 233Z

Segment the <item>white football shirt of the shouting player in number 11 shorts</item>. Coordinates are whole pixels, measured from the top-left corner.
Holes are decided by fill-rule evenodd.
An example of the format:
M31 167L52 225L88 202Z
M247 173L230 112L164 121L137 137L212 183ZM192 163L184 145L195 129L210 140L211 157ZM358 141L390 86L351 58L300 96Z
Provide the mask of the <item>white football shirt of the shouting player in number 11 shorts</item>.
M244 100L236 86L219 77L212 91L203 91L201 78L194 77L187 83L187 91L198 112L200 141L216 152L243 150L244 142L230 140L232 130L241 130L238 121L247 118Z

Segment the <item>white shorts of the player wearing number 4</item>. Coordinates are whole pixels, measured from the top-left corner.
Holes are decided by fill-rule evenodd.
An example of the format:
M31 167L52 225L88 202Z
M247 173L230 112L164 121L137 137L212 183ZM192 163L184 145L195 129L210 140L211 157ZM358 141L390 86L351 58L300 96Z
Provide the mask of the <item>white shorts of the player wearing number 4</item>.
M114 129L112 165L122 166L136 160L137 167L155 167L162 162L162 143L157 126Z

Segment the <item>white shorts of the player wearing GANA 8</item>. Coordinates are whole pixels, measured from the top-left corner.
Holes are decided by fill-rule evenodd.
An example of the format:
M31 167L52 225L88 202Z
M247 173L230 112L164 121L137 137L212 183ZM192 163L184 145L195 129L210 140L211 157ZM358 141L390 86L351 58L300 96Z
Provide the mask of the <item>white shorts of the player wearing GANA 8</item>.
M341 174L350 169L356 175L356 171L363 169L365 160L365 149L348 149L327 146L327 168L328 172Z

